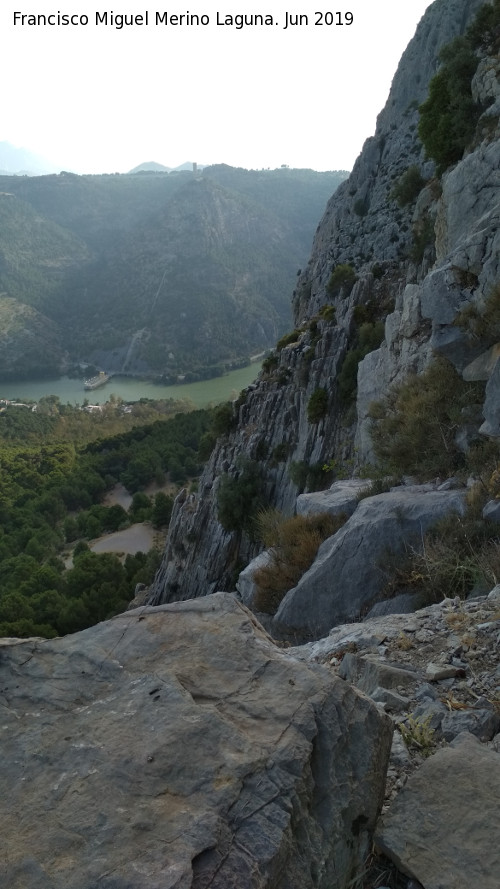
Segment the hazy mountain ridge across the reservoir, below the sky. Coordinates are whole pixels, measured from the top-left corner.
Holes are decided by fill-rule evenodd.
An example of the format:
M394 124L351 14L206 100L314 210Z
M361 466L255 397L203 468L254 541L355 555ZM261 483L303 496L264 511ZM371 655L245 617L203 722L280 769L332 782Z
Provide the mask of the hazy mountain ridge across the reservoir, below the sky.
M297 268L346 175L220 164L0 176L0 292L37 309L24 312L35 338L37 318L53 343L55 325L47 368L57 356L167 380L220 373L289 328ZM19 368L9 342L3 376Z

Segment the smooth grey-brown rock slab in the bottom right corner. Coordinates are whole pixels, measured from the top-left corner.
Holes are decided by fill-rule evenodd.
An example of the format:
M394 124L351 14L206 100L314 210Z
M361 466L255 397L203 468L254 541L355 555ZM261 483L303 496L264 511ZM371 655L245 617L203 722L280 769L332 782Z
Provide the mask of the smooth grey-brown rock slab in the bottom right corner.
M499 798L499 754L464 733L412 775L377 844L425 889L498 889Z

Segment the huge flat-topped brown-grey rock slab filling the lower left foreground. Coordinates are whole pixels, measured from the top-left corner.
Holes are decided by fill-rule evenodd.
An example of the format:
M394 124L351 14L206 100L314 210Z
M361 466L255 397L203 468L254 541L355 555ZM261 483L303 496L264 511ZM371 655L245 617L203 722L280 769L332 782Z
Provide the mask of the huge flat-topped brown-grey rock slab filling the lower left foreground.
M390 720L225 593L0 651L0 885L342 889Z

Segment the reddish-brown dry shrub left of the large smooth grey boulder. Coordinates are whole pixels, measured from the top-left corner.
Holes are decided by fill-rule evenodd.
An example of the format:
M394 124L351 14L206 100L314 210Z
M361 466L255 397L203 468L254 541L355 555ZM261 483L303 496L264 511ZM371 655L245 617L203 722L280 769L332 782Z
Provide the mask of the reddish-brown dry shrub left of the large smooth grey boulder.
M271 548L270 561L255 572L255 607L275 614L285 593L297 585L312 565L320 544L335 534L346 516L319 513L285 518L278 510L266 510L257 517L257 535Z

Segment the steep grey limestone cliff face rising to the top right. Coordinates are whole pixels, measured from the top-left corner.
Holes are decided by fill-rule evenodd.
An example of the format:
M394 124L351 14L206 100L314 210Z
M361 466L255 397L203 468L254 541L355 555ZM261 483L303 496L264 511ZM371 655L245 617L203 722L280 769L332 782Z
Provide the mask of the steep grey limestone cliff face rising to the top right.
M470 302L481 307L498 281L495 118L488 140L445 174L442 185L432 178L433 163L425 160L417 135L418 105L438 68L440 49L464 32L481 5L436 0L420 22L375 135L317 229L293 294L295 335L277 347L258 382L234 404L236 427L219 439L199 493L177 501L152 602L231 589L238 569L255 554L255 545L226 532L217 516L220 477L237 478L242 459L258 464L268 501L291 514L301 490L325 486L325 475L318 484L323 464L355 466L372 459L369 404L410 371L424 369L433 350L469 379L491 374L491 355L483 355L479 370L471 364L484 344L453 322ZM475 80L478 97L498 101L494 60L482 63ZM493 104L488 113L495 109ZM410 166L427 184L416 201L400 206L392 192ZM343 277L333 274L339 267ZM360 353L363 321L382 342ZM356 362L364 353L354 403ZM484 408L483 431L490 434L500 432L495 380L493 373ZM325 390L327 404L311 421L308 404L318 389Z

